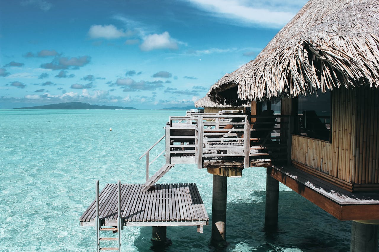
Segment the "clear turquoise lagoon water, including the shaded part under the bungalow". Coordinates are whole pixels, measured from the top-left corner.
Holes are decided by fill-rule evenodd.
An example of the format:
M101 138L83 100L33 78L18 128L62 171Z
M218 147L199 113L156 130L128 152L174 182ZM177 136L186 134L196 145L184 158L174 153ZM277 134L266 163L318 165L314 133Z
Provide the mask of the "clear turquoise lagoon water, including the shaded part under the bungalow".
M178 110L0 110L0 251L95 251L94 227L78 218L95 196L95 180L143 183L139 156L164 135ZM109 131L112 128L112 131ZM150 160L163 150L153 149ZM151 170L164 163L158 159ZM196 183L211 216L212 176L175 165L161 183ZM168 227L166 251L348 251L350 222L338 221L280 184L279 228L263 229L264 168L228 178L227 241L210 244L210 226ZM122 230L123 251L149 251L151 227Z

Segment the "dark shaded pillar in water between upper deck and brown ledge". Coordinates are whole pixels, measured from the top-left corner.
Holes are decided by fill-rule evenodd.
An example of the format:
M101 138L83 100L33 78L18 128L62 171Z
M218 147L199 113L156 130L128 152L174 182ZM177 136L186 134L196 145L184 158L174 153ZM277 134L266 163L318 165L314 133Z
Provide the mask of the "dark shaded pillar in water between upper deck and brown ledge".
M270 176L272 168L266 174L266 232L276 232L278 228L279 181Z

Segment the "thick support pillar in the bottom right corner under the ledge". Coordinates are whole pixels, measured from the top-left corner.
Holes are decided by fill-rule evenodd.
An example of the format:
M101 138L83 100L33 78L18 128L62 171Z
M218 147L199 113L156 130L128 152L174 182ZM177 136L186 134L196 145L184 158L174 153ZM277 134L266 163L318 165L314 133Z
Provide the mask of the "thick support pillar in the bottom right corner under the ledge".
M379 225L353 221L351 225L350 252L376 252Z

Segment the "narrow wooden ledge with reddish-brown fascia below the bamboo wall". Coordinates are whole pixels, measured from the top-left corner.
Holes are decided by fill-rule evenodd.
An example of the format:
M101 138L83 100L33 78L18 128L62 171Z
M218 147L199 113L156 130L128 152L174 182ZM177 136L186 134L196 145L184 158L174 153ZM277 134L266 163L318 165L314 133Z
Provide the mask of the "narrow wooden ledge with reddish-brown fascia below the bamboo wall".
M379 219L379 192L351 193L293 166L274 166L268 172L339 220Z

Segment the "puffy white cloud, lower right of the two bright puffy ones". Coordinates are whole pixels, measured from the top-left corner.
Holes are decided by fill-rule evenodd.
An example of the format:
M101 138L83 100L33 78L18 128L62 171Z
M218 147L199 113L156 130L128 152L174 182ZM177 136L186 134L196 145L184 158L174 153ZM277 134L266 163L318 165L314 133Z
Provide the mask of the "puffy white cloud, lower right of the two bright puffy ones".
M178 49L178 42L170 37L165 31L162 34L151 34L144 38L144 42L139 46L142 51L151 51L155 49Z

